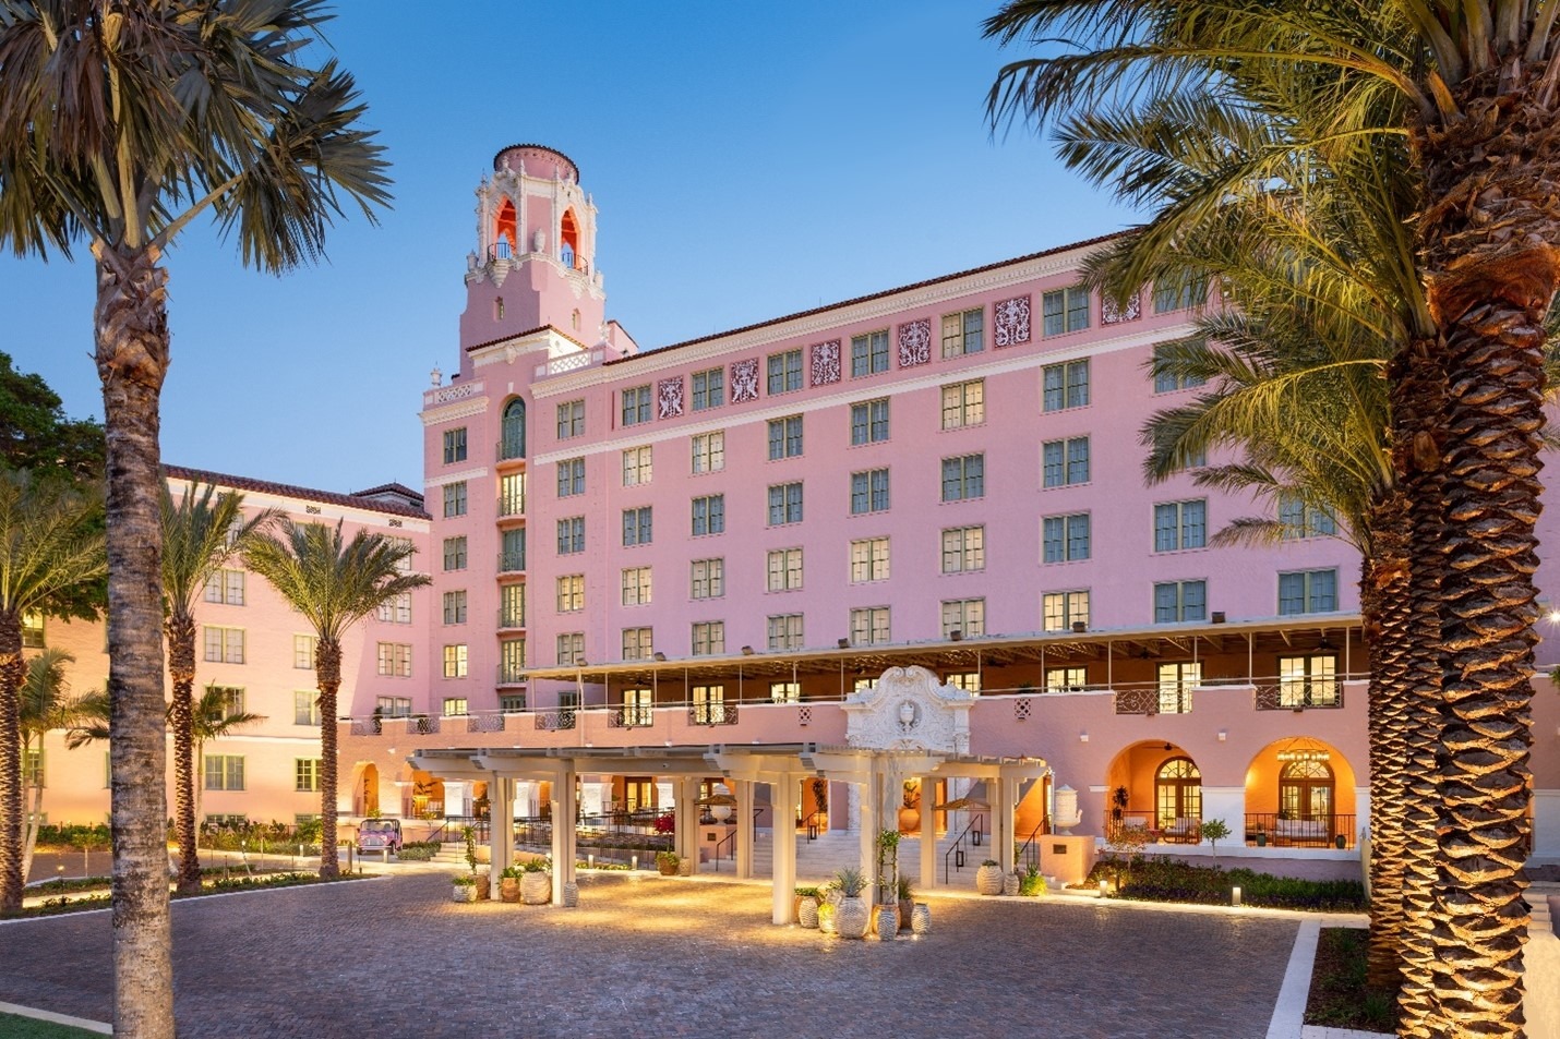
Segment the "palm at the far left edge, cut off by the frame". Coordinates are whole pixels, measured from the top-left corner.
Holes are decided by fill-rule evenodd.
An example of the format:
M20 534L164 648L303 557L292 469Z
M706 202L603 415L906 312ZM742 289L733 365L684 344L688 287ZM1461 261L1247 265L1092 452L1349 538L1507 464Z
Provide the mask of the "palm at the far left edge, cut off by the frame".
M100 509L64 479L0 470L0 913L22 906L22 616L103 573Z

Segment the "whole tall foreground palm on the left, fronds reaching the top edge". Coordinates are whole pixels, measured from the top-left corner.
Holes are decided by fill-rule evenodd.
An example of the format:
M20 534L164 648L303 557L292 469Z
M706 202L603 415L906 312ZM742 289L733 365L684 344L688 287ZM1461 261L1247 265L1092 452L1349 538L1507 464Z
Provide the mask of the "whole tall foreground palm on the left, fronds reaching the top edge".
M158 532L162 257L212 215L246 264L320 254L342 197L373 218L385 164L320 0L0 2L0 245L97 268L114 704L114 1025L173 1034ZM3 652L3 649L0 649Z

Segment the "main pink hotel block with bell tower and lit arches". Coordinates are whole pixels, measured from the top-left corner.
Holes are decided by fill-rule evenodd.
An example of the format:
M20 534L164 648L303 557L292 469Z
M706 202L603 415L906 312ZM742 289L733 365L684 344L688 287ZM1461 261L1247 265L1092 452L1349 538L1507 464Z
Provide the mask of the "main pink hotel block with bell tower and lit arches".
M725 783L738 819L867 849L888 775L948 838L969 814L934 805L984 800L1005 861L1076 797L1080 835L1142 825L1200 853L1221 819L1225 855L1357 869L1357 552L1287 502L1282 544L1212 548L1273 505L1192 473L1143 484L1143 421L1195 392L1145 362L1201 300L1106 307L1078 285L1083 242L641 351L605 317L577 167L515 145L493 170L459 371L423 393L434 585L393 640L404 672L370 668L390 635L362 635L343 811L682 813ZM970 694L936 761L860 760L900 746L863 736L892 668L941 686L902 705L906 732ZM1533 852L1552 860L1560 704L1538 685ZM777 885L788 869L777 853Z

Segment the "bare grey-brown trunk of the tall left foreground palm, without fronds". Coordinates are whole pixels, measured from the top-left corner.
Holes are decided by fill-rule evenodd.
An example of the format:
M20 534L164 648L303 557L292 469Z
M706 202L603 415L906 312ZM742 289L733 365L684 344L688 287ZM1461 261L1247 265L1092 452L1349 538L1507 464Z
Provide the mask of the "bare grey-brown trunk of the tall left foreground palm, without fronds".
M158 451L158 398L168 367L167 271L151 250L109 253L98 243L94 251L108 432L114 1034L173 1039Z

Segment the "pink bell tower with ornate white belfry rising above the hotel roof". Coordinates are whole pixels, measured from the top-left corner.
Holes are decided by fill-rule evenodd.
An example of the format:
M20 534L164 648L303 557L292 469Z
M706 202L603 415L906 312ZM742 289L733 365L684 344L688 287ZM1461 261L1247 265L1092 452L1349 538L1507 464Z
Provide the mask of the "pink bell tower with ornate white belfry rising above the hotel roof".
M562 151L510 145L476 189L462 348L551 324L582 346L608 337L596 268L596 203Z

